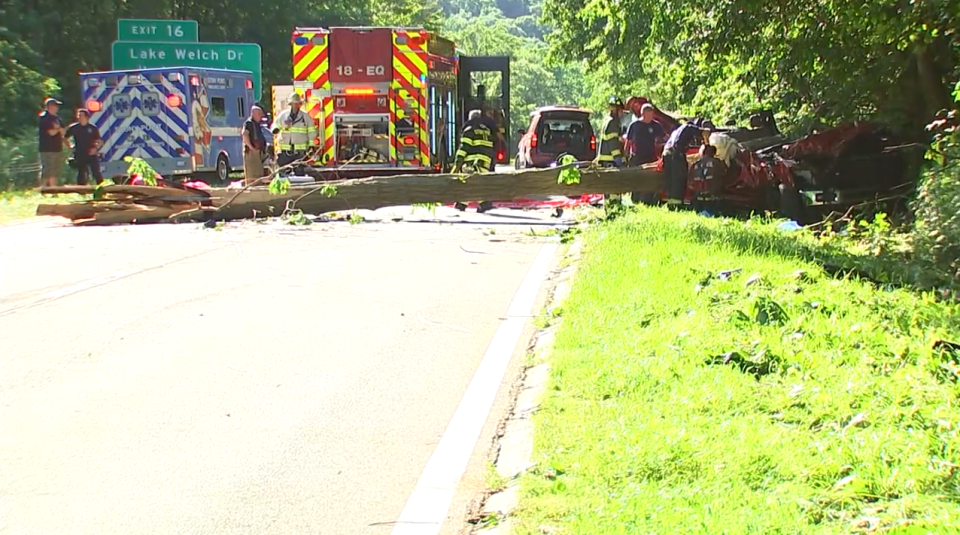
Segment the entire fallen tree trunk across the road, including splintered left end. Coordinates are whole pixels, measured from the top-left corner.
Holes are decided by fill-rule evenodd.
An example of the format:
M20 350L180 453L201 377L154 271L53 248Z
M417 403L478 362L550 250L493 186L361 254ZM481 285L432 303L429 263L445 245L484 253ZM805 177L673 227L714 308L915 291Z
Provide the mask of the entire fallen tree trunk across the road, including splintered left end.
M377 209L425 203L510 201L547 196L580 196L588 193L654 192L660 190L660 173L654 166L626 169L584 168L576 184L559 184L560 171L568 167L510 171L482 175L396 175L291 186L283 195L266 186L243 190L177 189L155 186L104 186L97 199L73 204L37 207L38 215L58 215L82 224L114 224L200 219L245 219L281 215L298 209L322 214L355 209ZM580 164L584 165L584 164ZM332 196L325 195L335 190ZM43 188L42 193L92 194L93 186Z

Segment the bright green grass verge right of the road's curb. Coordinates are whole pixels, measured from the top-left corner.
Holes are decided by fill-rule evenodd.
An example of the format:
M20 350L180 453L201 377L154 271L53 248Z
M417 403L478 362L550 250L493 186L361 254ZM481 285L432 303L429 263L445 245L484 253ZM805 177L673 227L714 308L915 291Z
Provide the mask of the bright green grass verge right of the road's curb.
M931 349L960 310L836 279L812 240L656 209L589 230L517 533L960 532L958 356Z

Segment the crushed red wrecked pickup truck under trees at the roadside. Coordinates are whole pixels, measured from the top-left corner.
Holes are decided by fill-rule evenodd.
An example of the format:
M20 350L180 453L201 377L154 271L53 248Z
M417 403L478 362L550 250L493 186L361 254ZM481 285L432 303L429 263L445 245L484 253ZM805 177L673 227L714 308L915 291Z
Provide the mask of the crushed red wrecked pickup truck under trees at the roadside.
M642 97L633 97L645 103ZM656 110L655 120L669 134L680 123ZM913 191L902 141L882 125L845 124L787 141L773 113L751 117L750 128L716 127L739 147L730 158L719 193L707 196L704 185L687 182L685 202L702 201L724 213L776 212L800 223L832 211L883 201L896 203ZM690 150L696 154L699 147ZM662 161L658 164L662 169ZM709 199L709 200L704 200ZM661 200L666 194L661 192Z

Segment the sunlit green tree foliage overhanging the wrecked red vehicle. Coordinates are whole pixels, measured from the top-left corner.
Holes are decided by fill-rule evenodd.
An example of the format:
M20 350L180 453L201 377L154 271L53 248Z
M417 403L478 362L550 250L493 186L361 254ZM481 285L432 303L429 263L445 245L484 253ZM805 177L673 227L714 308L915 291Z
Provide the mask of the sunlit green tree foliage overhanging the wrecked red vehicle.
M667 108L879 117L917 127L950 105L960 0L545 0L558 57Z

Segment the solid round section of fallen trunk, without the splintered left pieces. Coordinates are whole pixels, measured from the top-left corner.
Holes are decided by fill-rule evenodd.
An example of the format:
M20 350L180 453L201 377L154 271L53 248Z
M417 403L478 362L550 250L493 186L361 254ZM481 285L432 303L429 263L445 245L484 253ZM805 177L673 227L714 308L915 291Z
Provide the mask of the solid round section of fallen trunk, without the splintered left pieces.
M211 190L214 217L243 219L256 215L280 215L288 202L308 214L354 209L377 209L421 203L508 201L523 197L586 193L655 192L660 190L660 173L655 166L625 169L582 169L578 184L558 184L561 168L511 171L484 175L396 175L292 186L284 195L273 195L266 187L242 193ZM322 185L336 188L336 195L320 192Z

